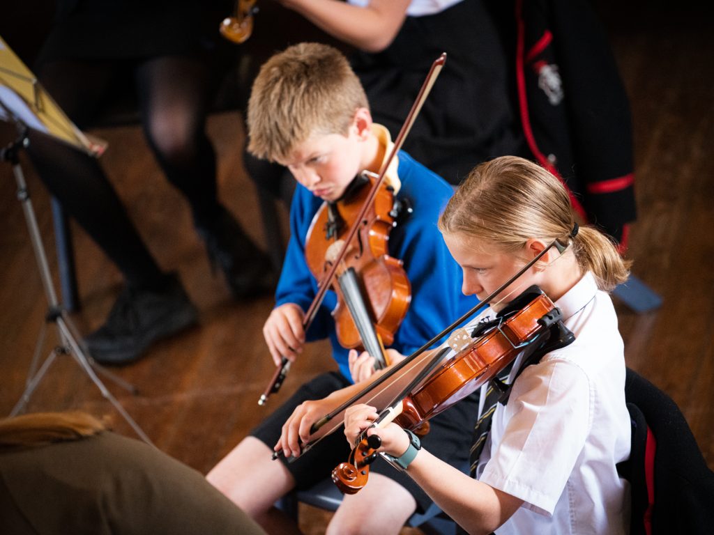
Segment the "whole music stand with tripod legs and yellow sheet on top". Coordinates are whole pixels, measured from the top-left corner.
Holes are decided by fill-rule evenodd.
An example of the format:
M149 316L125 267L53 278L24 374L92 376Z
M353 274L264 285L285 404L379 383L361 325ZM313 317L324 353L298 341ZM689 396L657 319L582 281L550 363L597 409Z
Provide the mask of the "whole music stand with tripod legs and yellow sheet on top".
M21 151L23 147L29 146L29 138L27 136L29 128L53 136L60 143L67 143L73 148L76 148L76 150L84 151L91 156L100 156L106 148L106 143L95 138L90 140L88 136L79 131L64 112L61 111L59 106L54 103L49 94L39 85L31 71L29 71L1 38L0 121L13 123L19 132L19 136L13 143L10 143L6 148L0 149L0 160L9 162L12 165L17 183L17 198L22 205L48 304L45 322L42 325L27 375L25 390L12 409L10 416L15 416L24 409L32 393L56 357L58 355L71 355L79 367L89 376L91 381L96 384L102 396L114 405L114 408L124 417L126 422L134 429L134 432L136 432L144 442L152 444L141 427L136 424L134 419L126 412L114 395L109 392L109 389L106 388L101 379L99 379L97 372L111 379L116 384L119 384L119 386L129 390L132 394L138 393L138 390L133 384L124 381L124 379L109 372L109 370L106 370L94 361L84 344L79 341L81 340L81 336L79 336L76 327L71 322L64 307L62 307L57 300L44 245L42 245L40 238L34 208L32 207L24 173L19 163L19 151ZM44 363L38 369L39 355L44 347L47 325L49 324L56 327L61 344L50 352Z

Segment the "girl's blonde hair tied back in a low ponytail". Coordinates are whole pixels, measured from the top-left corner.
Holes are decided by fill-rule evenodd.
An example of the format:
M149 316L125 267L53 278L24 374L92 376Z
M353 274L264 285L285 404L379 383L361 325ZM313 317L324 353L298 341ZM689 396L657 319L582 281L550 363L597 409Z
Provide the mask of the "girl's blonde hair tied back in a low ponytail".
M444 234L478 238L506 252L522 250L530 238L572 244L580 270L595 275L600 290L627 280L630 263L613 241L588 225L575 228L565 187L544 168L516 156L481 163L449 200L439 219Z

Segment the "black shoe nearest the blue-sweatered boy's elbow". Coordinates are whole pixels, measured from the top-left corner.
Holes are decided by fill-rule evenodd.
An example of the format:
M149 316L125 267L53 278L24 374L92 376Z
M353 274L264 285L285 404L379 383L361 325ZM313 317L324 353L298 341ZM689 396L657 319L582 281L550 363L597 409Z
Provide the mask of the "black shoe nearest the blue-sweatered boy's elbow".
M196 223L196 230L206 243L211 267L221 267L234 299L273 290L276 281L268 255L248 238L228 210L220 207L210 221Z

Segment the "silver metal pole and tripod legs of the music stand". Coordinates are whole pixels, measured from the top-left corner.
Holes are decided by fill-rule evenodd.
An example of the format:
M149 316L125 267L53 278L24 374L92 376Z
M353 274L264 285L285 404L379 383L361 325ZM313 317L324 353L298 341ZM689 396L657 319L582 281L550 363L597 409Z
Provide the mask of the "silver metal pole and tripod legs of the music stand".
M30 234L30 241L35 253L35 258L39 267L40 278L49 305L49 309L46 315L46 323L51 322L56 325L57 333L59 335L59 339L61 340L62 346L56 347L47 357L38 372L33 375L37 363L37 352L39 351L38 349L36 349L36 354L33 357L33 362L31 364L31 369L29 373L29 377L31 378L28 379L25 391L22 394L19 402L14 407L11 415L19 413L20 410L26 406L26 404L29 402L32 392L34 392L34 389L36 389L37 385L44 377L47 370L49 370L50 365L52 364L52 362L54 362L57 355L68 353L69 355L74 357L74 360L77 362L79 367L84 370L84 372L89 376L91 381L94 382L96 387L99 388L101 394L106 399L108 399L111 404L114 405L114 408L119 412L119 414L121 414L122 417L124 417L126 422L129 423L129 425L132 429L134 429L136 434L138 434L139 437L144 440L144 442L152 444L149 437L146 436L146 433L141 430L141 427L136 424L134 419L131 418L129 413L126 412L126 410L124 409L124 407L121 406L119 401L111 394L111 392L109 392L104 383L101 382L101 379L97 377L94 370L101 370L102 374L104 374L106 377L109 377L109 379L114 380L121 387L128 389L130 392L136 393L136 387L124 381L123 379L116 377L116 375L111 374L109 371L101 369L101 367L96 364L96 362L94 362L94 359L92 359L88 354L86 354L84 350L81 349L79 342L77 342L77 340L79 340L79 336L77 336L76 327L74 327L74 325L71 323L69 317L66 317L64 310L62 310L62 307L59 304L59 301L57 300L57 295L54 290L54 285L52 284L52 279L49 272L49 263L47 262L47 256L45 254L44 246L42 245L42 240L40 238L39 227L37 225L34 208L32 207L32 202L30 199L29 191L27 189L27 184L25 182L24 174L22 173L22 168L19 163L18 152L21 147L26 147L28 143L29 139L27 138L26 128L21 128L21 134L19 138L14 143L11 143L9 146L0 151L0 160L8 161L12 165L12 170L17 183L17 198L21 202L22 210L25 215L27 228ZM41 340L43 342L44 335L45 331L43 330L41 333Z

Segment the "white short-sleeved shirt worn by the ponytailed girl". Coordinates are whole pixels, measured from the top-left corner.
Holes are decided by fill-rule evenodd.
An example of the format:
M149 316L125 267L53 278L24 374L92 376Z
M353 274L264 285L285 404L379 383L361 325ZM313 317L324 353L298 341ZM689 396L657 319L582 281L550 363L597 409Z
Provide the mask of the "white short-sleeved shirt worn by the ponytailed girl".
M615 464L630 455L630 417L617 316L591 273L555 305L575 342L526 367L498 404L476 477L524 501L498 535L626 534L628 484Z

